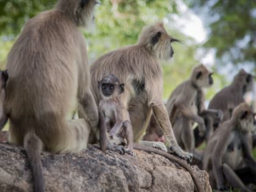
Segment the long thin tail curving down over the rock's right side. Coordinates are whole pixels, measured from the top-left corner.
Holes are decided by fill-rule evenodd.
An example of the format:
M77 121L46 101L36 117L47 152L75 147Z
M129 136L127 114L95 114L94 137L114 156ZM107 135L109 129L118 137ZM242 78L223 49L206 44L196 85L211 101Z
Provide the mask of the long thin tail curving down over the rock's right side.
M155 148L150 148L147 146L140 146L139 144L135 144L135 143L133 144L133 149L137 149L140 151L146 151L146 152L154 152L155 154L162 155L163 157L168 158L169 160L171 160L175 163L178 163L180 166L185 168L190 173L192 179L194 180L194 184L196 185L197 192L203 192L202 186L199 183L199 180L197 179L197 177L194 175L193 170L183 160L180 160L179 158L175 157L174 155L168 154L165 151L161 151L161 150L155 149Z

